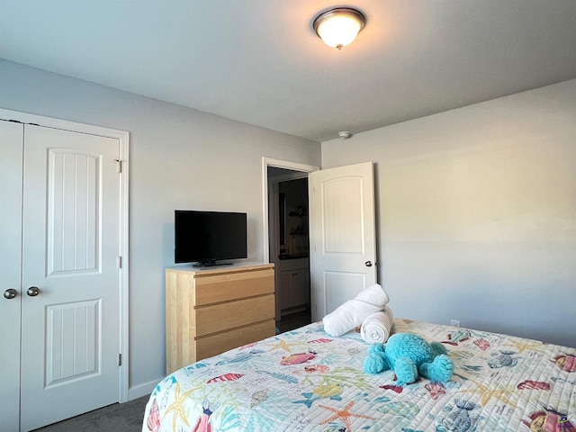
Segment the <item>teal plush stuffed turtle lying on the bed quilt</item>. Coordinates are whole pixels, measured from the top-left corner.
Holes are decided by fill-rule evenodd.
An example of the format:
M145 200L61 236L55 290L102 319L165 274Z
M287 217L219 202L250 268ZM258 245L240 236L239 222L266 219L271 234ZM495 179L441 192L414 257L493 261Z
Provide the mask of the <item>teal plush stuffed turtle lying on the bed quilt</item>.
M384 344L368 348L364 363L366 374L392 369L400 385L415 383L419 376L446 383L454 374L454 364L446 356L446 347L428 342L413 333L396 333Z

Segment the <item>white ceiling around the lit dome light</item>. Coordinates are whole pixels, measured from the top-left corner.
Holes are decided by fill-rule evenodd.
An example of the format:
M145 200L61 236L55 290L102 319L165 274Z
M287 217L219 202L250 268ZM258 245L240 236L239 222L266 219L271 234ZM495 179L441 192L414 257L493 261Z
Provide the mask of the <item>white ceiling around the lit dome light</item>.
M316 14L352 5L341 51ZM0 58L318 141L576 78L574 0L0 0Z

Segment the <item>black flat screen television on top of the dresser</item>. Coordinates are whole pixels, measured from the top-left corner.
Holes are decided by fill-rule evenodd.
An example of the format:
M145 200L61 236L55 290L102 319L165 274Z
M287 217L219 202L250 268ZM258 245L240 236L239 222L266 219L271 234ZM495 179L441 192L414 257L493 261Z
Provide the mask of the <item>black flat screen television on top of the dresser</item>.
M175 210L175 263L224 266L247 258L247 213Z

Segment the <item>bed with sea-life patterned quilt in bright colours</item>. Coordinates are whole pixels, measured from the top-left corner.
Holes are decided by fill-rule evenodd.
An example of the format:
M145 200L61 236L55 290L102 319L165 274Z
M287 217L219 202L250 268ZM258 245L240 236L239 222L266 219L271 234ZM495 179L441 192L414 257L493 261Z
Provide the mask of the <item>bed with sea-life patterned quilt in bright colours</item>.
M576 431L576 349L413 320L394 331L442 342L452 379L365 374L360 335L316 322L170 374L142 431Z

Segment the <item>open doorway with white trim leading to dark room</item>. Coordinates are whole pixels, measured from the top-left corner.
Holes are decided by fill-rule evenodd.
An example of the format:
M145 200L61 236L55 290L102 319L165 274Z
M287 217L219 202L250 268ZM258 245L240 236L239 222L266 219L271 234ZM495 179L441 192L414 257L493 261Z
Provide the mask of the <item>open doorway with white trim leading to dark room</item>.
M319 168L266 158L264 168L265 250L275 264L276 328L284 332L311 322L308 173Z

